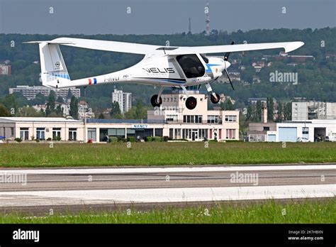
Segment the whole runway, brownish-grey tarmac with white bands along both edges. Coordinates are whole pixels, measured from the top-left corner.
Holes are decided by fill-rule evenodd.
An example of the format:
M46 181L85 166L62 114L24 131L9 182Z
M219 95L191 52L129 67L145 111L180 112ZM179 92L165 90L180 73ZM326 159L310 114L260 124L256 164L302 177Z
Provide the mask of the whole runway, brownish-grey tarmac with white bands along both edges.
M1 169L25 178L0 182L0 210L116 204L169 204L330 198L336 165Z

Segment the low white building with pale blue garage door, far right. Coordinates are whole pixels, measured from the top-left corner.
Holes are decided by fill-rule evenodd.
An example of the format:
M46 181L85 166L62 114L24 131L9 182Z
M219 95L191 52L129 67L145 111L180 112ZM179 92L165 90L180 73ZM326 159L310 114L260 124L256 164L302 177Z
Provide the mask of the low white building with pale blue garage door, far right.
M298 141L307 138L308 141L325 141L336 139L336 119L313 119L308 121L286 121L276 123L276 131L267 131L267 141Z

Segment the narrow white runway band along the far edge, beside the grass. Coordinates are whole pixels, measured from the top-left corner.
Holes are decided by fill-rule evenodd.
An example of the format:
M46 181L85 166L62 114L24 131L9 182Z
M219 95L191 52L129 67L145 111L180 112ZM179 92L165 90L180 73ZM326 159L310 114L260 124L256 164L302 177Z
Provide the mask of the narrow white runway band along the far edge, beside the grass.
M162 168L68 168L68 169L0 169L4 173L52 174L52 175L94 175L94 174L136 174L159 172L230 172L262 170L336 170L336 165L255 165L255 166L205 166L205 167L162 167Z

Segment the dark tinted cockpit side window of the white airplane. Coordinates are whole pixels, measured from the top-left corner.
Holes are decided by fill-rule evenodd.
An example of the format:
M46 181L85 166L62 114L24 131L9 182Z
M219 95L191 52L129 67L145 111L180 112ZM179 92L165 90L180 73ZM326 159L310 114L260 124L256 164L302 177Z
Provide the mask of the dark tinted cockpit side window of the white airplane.
M177 56L177 62L179 62L187 78L203 77L206 73L203 64L195 54L179 55Z

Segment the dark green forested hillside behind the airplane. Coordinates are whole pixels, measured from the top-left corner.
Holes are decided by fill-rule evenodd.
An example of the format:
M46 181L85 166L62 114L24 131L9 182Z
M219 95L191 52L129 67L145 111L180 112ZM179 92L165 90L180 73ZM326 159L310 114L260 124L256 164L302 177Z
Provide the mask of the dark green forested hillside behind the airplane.
M12 75L0 76L0 98L9 94L10 87L16 85L40 85L40 65L38 45L24 44L30 40L51 40L62 35L22 35L0 34L0 62L11 61ZM321 29L273 29L236 31L212 31L211 35L174 34L174 35L69 35L72 38L91 38L99 40L125 41L152 45L194 46L194 45L226 45L232 40L235 43L262 43L301 40L303 47L293 51L290 55L313 55L315 60L308 60L297 66L287 65L289 60L272 60L270 67L264 67L255 72L252 62L262 59L263 55L277 55L279 50L263 50L258 52L232 53L230 60L239 60L239 66L233 65L229 72L240 72L242 81L234 82L235 91L227 83L215 83L213 89L219 94L225 94L237 102L237 107L247 105L250 97L274 97L278 101L291 101L294 97L306 97L318 101L336 101L336 28ZM142 55L127 53L111 53L99 50L62 47L62 53L72 79L102 75L108 72L122 70L134 65L142 59ZM34 63L35 62L35 63ZM245 66L245 70L239 67ZM269 73L297 72L298 84L269 82ZM257 76L259 82L253 82ZM86 99L94 109L111 107L111 92L114 88L133 93L133 100L150 104L150 97L158 89L138 84L115 84L89 87L86 90ZM16 97L20 97L16 95ZM31 102L19 99L21 104Z

